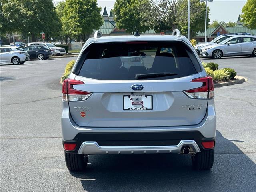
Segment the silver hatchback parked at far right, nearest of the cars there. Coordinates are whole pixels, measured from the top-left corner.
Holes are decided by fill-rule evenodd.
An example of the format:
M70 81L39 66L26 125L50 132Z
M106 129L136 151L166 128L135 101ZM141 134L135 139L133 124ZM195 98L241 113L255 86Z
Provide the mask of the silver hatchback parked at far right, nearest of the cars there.
M233 36L219 44L204 46L200 49L204 57L220 59L222 56L256 56L256 36Z

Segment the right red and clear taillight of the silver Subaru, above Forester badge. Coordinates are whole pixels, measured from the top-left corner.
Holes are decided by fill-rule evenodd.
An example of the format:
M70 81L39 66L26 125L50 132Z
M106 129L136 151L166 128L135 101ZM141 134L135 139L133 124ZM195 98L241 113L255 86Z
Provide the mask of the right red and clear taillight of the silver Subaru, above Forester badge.
M202 82L203 85L198 88L184 91L184 93L193 99L212 99L214 98L214 84L212 77L200 77L192 79L191 82Z

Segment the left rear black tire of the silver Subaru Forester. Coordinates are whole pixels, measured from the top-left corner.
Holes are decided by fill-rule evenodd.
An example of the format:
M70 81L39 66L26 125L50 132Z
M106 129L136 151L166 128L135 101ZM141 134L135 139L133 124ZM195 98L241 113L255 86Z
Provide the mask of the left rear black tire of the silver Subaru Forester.
M88 156L84 154L66 153L65 161L68 170L70 171L83 171L85 170L88 162Z

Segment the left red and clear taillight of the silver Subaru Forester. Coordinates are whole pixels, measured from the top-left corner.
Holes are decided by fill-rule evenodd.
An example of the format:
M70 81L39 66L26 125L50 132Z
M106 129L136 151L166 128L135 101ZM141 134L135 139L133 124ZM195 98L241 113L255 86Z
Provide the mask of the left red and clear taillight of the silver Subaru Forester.
M81 85L84 82L74 79L65 79L62 85L62 101L84 101L88 99L92 93L74 89L74 85Z

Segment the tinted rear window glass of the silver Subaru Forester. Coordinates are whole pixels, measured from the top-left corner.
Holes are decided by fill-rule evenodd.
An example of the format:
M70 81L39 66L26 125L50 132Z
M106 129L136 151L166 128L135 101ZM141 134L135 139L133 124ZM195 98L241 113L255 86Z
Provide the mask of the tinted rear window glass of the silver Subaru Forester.
M99 80L135 80L138 74L174 73L148 80L196 74L196 56L182 42L94 43L82 54L75 73ZM147 79L147 78L146 78Z

